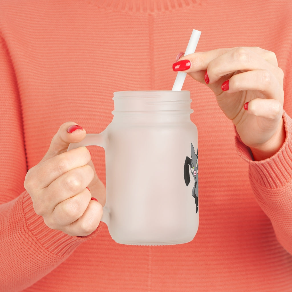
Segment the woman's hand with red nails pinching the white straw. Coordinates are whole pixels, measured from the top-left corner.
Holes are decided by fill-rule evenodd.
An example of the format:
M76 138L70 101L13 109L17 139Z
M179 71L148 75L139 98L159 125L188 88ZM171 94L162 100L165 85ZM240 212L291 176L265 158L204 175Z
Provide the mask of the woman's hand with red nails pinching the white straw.
M184 56L174 71L187 72L215 93L255 160L271 157L283 145L283 71L276 55L257 47L216 49Z

